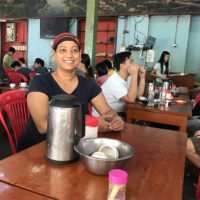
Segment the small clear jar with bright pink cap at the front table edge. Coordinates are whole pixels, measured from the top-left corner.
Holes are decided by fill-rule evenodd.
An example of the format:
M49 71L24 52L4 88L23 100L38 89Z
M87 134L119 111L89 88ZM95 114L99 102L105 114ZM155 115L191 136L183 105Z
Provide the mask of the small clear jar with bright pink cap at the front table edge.
M128 173L120 169L110 170L108 180L109 191L107 200L125 200Z

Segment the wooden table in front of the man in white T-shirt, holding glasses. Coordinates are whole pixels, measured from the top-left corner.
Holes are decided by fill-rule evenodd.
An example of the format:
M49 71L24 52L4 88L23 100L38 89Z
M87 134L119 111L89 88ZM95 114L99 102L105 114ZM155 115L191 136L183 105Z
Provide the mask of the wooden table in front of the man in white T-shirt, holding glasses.
M186 132L188 118L192 117L192 105L172 104L169 107L147 107L139 103L127 103L127 122L133 119L178 126Z

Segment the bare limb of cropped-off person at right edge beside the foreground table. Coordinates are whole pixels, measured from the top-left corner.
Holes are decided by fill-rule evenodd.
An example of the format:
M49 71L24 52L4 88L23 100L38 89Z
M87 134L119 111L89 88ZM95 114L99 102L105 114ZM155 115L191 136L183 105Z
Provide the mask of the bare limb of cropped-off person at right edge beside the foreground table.
M200 168L200 130L194 133L194 136L187 139L186 148L187 159Z

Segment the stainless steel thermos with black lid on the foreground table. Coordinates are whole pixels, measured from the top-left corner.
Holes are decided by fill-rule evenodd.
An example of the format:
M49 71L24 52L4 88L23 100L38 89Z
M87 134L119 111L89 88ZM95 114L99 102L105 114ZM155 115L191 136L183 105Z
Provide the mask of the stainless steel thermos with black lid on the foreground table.
M58 163L77 160L74 145L84 136L83 106L75 103L74 95L56 95L49 103L47 159Z

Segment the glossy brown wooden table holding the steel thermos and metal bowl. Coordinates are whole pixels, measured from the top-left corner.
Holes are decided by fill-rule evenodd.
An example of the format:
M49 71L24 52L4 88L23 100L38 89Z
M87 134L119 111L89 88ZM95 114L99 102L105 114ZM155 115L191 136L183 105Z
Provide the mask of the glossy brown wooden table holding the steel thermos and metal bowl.
M135 156L126 164L127 199L180 200L186 134L126 124L125 130L101 134L128 142ZM58 165L45 158L45 142L0 161L0 180L57 199L103 200L108 178L88 172L79 160Z

